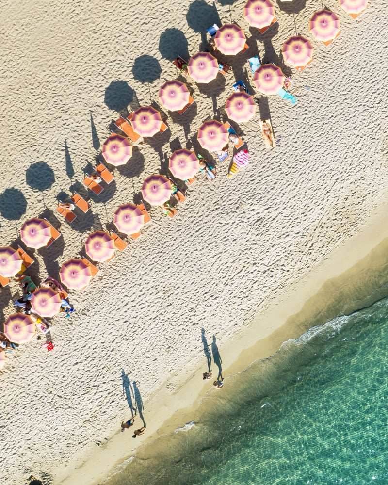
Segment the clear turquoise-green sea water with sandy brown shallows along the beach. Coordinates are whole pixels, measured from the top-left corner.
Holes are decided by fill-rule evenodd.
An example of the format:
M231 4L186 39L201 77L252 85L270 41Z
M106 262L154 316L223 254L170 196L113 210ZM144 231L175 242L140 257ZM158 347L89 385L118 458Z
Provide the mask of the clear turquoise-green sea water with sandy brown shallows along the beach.
M388 299L312 328L107 484L387 484L387 342Z

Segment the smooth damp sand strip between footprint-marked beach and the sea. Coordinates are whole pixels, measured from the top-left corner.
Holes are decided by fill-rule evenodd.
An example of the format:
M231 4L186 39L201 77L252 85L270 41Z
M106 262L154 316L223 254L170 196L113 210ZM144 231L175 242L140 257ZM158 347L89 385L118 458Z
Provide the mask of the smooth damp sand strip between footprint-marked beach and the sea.
M281 298L275 298L267 309L259 312L248 328L226 342L222 348L224 362L230 362L223 368L226 377L244 371L255 360L270 357L284 341L300 337L316 324L365 306L361 302L388 282L387 209L388 204L385 204L376 210L361 232L334 249L308 275L295 281ZM328 305L326 298L333 293L336 296ZM367 306L379 298L376 294ZM347 307L339 308L343 301L348 302ZM252 341L255 341L254 345L251 345ZM159 390L152 396L147 404L147 416L152 417L152 424L147 426L150 433L143 440L132 443L130 433L124 436L116 433L94 453L58 470L54 485L98 484L133 456L139 446L147 446L154 439L193 421L200 400L211 389L207 381L200 386L198 376L203 368L203 363L201 367L192 366L190 377L177 392L171 394ZM177 408L169 412L174 404ZM128 443L132 447L124 453ZM70 467L73 469L69 470Z

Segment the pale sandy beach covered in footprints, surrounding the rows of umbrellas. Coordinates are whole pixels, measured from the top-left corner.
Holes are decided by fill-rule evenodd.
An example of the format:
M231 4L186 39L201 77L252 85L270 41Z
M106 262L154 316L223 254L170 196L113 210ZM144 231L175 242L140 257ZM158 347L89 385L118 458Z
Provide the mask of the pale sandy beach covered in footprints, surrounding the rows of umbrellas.
M171 60L194 54L214 21L232 18L251 34L243 1L234 2L231 13L225 2L200 0L157 0L147 12L137 3L47 3L9 0L0 7L0 243L17 244L22 222L33 216L48 217L63 234L49 249L30 251L36 262L29 273L37 283L79 255L88 233L110 228L114 210L133 200L143 178L165 169L173 150L197 148L196 129L222 114L234 79L254 91L245 59L255 49L264 61L277 62L295 32L294 16L276 6L278 24L249 40L250 50L233 60L235 76L200 88L188 81L194 107L182 117L166 113L170 131L135 149L133 160L114 170L115 182L91 197L92 212L69 226L53 212L57 197L93 163L115 110L158 103L159 86L177 75ZM54 351L34 339L7 357L0 391L5 483L32 475L58 483L96 450L98 467L91 458L66 483L98 481L130 454L117 445L119 438L129 442L129 433L112 438L130 417L123 370L145 406L141 443L203 394L196 372L206 365L202 327L208 340L217 338L225 375L241 370L304 331L306 321L299 328L282 325L326 279L388 236L382 219L388 186L384 2L371 2L356 21L338 2L326 6L339 15L342 31L329 47L308 35L308 19L320 4L295 15L298 33L315 48L314 62L293 75L297 105L263 97L254 121L237 127L251 154L248 167L228 180L219 164L214 183L199 175L174 220L152 209L142 237L101 264L86 290L70 292L77 312L52 320ZM282 136L272 151L258 133L260 116L269 113L275 135ZM14 283L1 290L0 323L17 297ZM277 317L269 319L276 307ZM279 327L271 344L267 339L238 360L244 348ZM240 363L232 366L234 360Z

